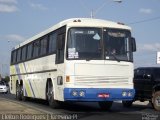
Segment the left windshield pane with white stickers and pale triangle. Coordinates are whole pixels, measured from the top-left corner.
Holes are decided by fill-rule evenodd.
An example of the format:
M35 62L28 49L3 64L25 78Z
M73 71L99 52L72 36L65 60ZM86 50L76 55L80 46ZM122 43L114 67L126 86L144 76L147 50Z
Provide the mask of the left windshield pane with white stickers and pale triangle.
M68 33L67 58L102 59L101 29L71 28Z

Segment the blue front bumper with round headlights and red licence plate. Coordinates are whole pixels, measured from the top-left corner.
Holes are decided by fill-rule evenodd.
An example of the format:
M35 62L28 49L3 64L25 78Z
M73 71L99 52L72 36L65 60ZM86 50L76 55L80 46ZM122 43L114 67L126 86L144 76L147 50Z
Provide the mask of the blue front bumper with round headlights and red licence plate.
M134 95L134 89L64 88L64 101L129 101Z

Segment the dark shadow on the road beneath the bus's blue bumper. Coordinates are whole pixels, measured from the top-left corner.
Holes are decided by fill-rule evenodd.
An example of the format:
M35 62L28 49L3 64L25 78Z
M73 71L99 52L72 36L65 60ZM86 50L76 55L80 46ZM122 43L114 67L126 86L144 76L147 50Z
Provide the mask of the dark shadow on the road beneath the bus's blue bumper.
M146 109L150 109L154 111L154 109L150 105L136 105L134 104L132 107L125 108L123 107L122 103L113 103L113 106L110 110L102 110L98 103L92 102L83 102L83 103L67 103L65 104L62 109L65 109L70 112L137 112L137 111L144 111Z

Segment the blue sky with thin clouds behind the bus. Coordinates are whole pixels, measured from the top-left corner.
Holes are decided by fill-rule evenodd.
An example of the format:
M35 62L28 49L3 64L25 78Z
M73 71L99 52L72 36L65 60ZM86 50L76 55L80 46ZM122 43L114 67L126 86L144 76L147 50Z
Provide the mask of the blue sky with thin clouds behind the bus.
M123 22L137 43L134 66L160 66L160 0L0 0L0 73L9 75L11 49L69 18Z

